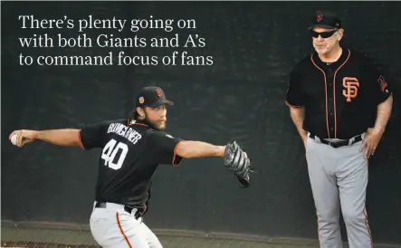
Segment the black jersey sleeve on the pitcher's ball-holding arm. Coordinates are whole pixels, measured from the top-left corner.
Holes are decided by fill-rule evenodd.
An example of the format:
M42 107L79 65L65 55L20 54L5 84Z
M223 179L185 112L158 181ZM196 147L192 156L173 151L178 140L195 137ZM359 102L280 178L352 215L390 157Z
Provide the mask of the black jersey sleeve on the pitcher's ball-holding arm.
M107 134L108 123L100 122L83 127L80 130L80 146L83 150L91 148L101 148L103 146L104 137Z

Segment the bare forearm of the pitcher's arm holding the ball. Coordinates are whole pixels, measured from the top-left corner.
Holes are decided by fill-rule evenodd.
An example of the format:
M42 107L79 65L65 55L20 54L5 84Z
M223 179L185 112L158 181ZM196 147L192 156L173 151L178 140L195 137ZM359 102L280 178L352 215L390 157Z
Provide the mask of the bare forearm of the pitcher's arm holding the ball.
M35 139L63 147L80 146L79 129L52 129L36 131Z

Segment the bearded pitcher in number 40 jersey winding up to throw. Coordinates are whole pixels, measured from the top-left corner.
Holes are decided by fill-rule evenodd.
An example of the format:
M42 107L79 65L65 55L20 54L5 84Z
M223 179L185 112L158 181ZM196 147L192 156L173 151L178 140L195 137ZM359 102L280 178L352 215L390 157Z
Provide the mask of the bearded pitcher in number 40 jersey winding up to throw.
M240 186L249 186L250 159L233 140L225 146L175 138L164 131L167 100L162 89L138 92L129 119L107 120L83 129L16 130L19 148L43 140L58 146L100 148L91 234L102 247L162 247L143 223L150 185L159 164L178 166L184 157L224 157Z

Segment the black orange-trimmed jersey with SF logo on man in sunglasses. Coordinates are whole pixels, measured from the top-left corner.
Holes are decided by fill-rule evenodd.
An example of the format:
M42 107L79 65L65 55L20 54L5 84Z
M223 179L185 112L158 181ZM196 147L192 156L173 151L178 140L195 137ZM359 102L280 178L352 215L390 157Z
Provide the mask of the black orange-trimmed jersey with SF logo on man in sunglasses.
M313 52L291 72L286 104L305 108L303 129L347 139L375 124L377 105L392 94L383 72L364 54L343 48L337 62Z

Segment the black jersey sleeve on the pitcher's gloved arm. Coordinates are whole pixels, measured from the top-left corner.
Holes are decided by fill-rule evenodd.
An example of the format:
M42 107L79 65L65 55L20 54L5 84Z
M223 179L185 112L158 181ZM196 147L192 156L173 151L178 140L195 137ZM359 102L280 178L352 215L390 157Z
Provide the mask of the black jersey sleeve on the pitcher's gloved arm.
M166 132L157 131L149 136L149 145L154 151L151 156L157 160L158 164L178 166L183 157L176 153L177 144L182 138L174 138Z

